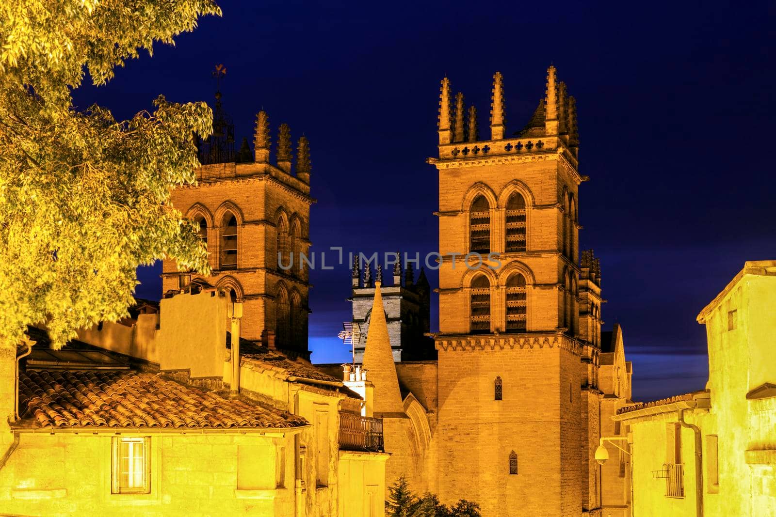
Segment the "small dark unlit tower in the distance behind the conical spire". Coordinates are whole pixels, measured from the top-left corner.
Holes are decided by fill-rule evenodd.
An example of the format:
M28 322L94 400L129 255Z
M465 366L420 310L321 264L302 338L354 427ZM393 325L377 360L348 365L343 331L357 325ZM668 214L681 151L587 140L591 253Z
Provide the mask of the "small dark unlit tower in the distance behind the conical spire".
M399 258L393 264L393 285L382 288L393 360L435 359L434 341L426 336L430 331L431 288L425 271L421 269L416 281L412 264L407 264L406 271L402 271L402 262ZM356 329L352 344L356 363L361 363L364 357L375 297L371 264L366 262L362 267L360 263L360 257L354 257L351 270L352 328ZM382 284L382 266L378 264L377 267L375 281Z

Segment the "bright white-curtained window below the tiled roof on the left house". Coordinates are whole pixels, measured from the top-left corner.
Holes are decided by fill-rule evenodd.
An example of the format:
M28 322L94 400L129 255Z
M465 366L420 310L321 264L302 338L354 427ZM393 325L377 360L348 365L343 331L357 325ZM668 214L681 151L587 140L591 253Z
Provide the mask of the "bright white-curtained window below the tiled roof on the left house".
M148 438L113 439L113 494L148 494Z

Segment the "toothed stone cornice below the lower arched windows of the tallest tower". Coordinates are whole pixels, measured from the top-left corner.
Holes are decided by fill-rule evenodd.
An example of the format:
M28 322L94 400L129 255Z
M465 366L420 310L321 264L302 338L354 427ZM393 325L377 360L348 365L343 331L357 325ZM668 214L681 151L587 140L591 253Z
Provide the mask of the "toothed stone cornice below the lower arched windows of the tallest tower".
M582 354L582 345L565 334L546 333L524 335L449 335L438 334L435 336L436 350L445 352L459 352L463 350L543 350L559 348L579 357Z

